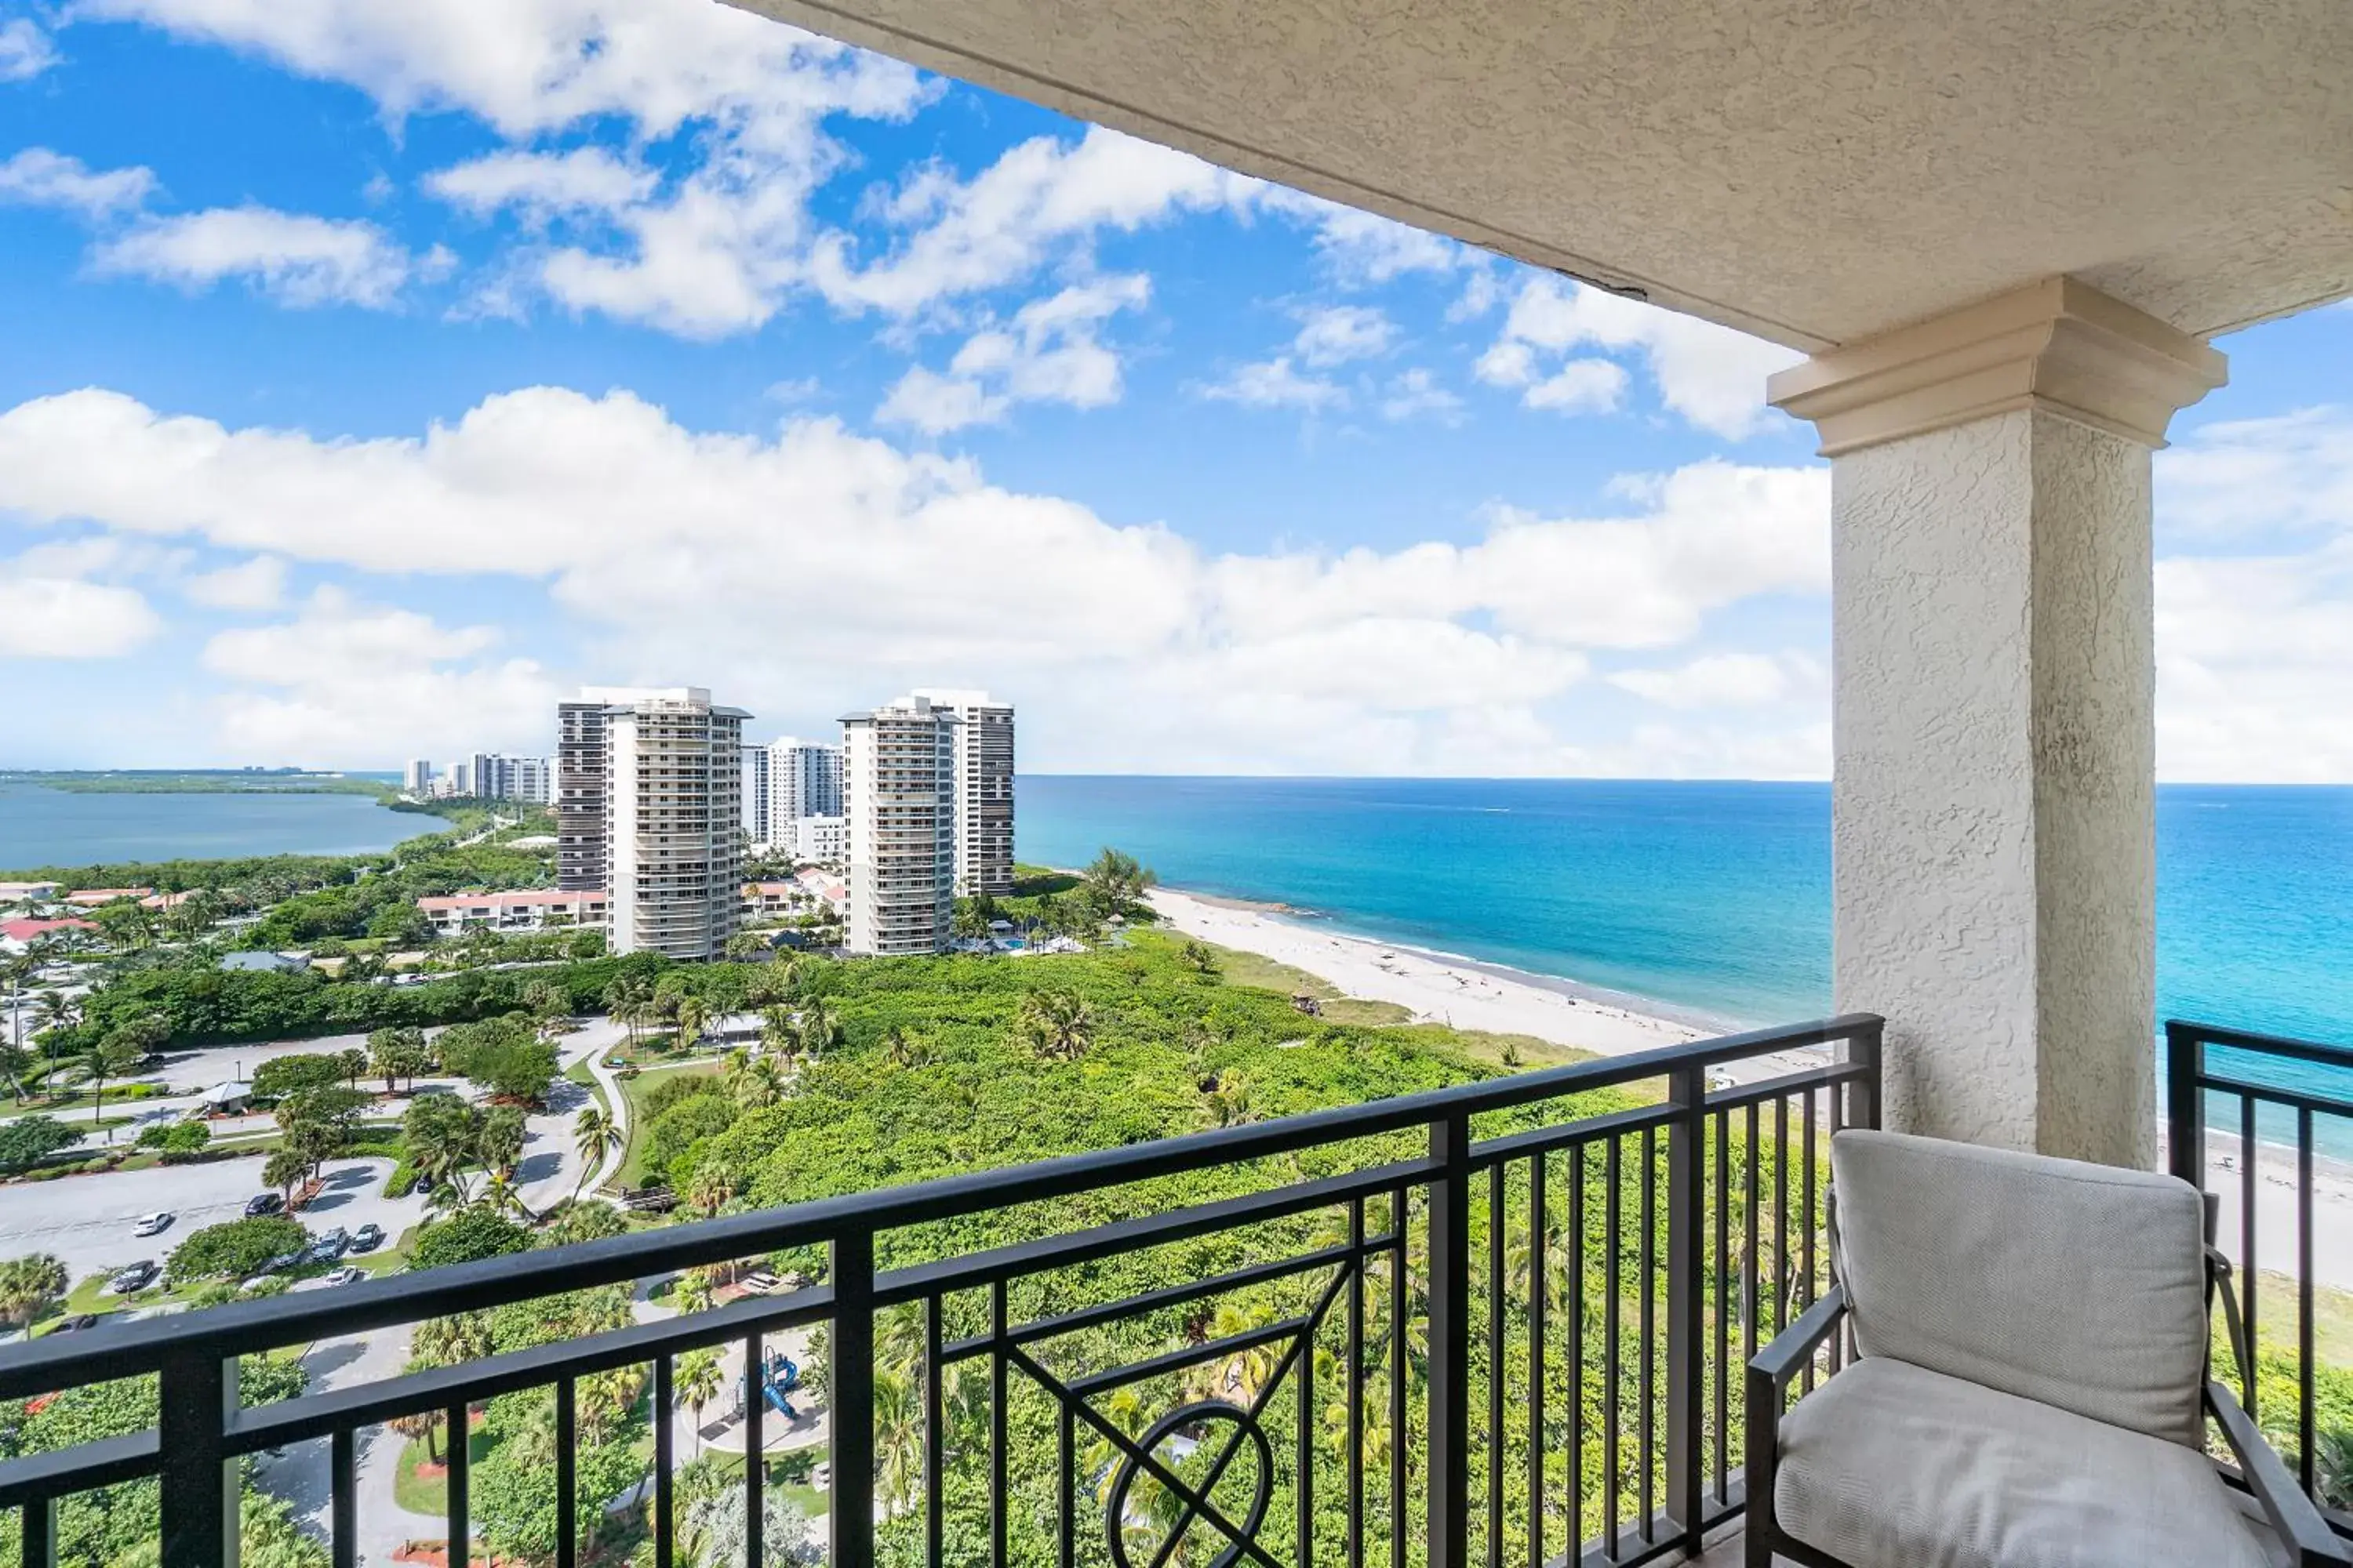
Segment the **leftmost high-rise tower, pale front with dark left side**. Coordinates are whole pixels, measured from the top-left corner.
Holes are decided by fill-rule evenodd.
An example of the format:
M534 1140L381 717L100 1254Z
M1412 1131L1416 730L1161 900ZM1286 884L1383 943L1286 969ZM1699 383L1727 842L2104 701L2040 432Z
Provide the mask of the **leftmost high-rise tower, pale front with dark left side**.
M588 686L558 708L558 870L567 889L602 872L614 952L708 959L734 933L746 717L701 686Z

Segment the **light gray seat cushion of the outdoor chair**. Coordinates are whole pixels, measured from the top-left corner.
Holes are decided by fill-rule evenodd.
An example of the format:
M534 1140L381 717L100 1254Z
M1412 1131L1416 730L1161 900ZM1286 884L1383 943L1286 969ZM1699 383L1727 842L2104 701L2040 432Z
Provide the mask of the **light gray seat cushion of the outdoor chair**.
M1781 1420L1777 1523L1852 1568L2266 1568L2205 1455L1889 1356Z

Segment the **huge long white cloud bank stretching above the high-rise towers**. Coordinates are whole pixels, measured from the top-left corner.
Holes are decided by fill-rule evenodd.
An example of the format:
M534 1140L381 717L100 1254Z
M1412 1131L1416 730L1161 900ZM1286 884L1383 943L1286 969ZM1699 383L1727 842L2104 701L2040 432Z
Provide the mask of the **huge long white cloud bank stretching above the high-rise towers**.
M1826 585L1821 468L1699 463L1621 494L1624 515L1497 512L1471 543L1207 555L833 421L706 435L626 393L508 393L407 440L226 430L96 390L0 414L0 508L31 524L508 578L518 623L546 592L579 628L584 677L722 684L779 726L894 684L1005 686L1052 766L1459 771L1471 736L1541 766L1558 741L1525 738L1591 651ZM776 614L795 583L826 590ZM544 672L501 663L527 649L393 614L313 599L299 635L224 635L209 668L252 689L235 752L346 759L374 703L440 736L492 715L464 722L487 736L541 701ZM421 741L379 726L367 755Z

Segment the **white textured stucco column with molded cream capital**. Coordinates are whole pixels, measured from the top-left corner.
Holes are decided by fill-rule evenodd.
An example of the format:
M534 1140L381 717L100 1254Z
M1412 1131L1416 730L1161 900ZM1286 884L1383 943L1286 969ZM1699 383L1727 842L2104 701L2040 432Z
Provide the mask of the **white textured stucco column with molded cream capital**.
M2221 381L2066 277L1772 381L1833 458L1833 976L1887 1126L2153 1159L2148 454Z

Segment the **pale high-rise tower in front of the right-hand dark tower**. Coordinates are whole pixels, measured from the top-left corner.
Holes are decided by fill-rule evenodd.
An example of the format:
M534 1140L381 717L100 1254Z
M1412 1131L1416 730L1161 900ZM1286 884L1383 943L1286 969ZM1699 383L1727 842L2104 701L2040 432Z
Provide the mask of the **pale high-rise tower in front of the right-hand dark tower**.
M849 952L944 952L955 914L955 715L904 696L842 719Z

